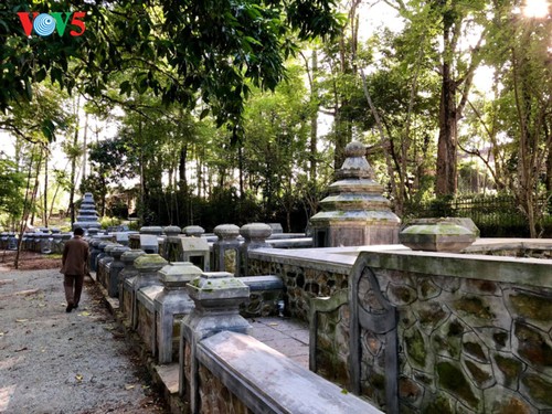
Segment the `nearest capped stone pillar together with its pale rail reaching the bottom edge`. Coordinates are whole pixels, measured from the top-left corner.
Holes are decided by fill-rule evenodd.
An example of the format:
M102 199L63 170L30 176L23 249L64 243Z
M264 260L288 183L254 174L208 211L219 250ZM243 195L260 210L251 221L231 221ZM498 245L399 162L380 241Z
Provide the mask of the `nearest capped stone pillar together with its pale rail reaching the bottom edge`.
M179 394L197 413L381 413L250 337L237 304L248 287L229 273L188 285L194 309L181 327Z

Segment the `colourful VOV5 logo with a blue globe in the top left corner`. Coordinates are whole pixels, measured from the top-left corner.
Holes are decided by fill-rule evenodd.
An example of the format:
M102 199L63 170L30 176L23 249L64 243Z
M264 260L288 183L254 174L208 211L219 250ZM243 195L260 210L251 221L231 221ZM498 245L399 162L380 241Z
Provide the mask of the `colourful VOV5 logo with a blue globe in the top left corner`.
M25 31L26 36L30 36L33 29L34 33L40 36L51 35L55 29L57 29L57 34L63 36L65 33L65 28L67 23L77 28L78 30L70 31L72 36L79 36L86 30L84 22L81 20L86 15L84 11L72 12L54 12L54 13L38 13L38 12L19 12L19 20L21 20L21 25Z

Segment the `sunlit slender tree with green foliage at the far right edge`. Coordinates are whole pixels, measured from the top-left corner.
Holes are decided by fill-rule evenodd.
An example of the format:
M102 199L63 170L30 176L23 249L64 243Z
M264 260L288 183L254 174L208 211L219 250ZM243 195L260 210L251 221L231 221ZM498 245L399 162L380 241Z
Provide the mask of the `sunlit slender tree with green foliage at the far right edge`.
M552 153L552 70L550 19L521 15L514 2L496 4L485 62L495 70L493 99L471 103L474 137L484 138L488 151L467 138L466 151L479 157L496 185L517 200L539 236L550 198ZM476 124L477 120L477 124ZM548 193L546 193L548 192Z

